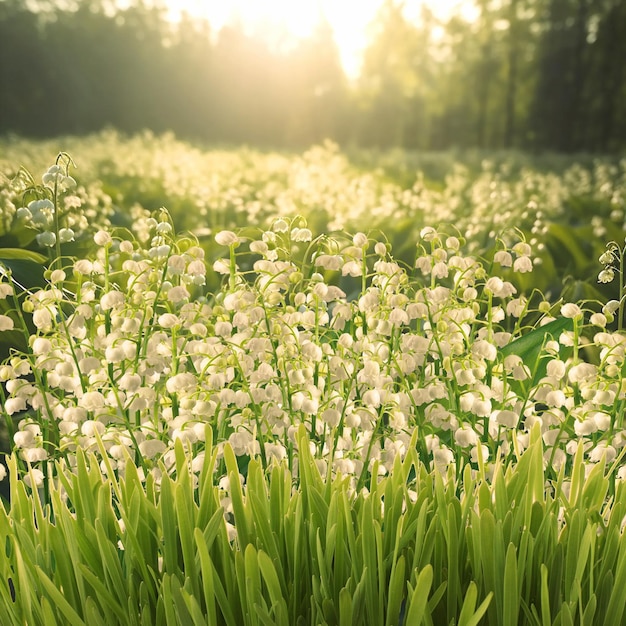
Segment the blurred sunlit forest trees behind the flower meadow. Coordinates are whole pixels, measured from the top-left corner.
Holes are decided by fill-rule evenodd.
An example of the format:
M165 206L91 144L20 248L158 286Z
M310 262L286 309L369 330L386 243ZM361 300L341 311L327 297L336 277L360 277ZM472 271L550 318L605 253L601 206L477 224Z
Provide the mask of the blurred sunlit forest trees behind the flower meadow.
M347 77L320 22L293 45L164 3L0 0L0 134L172 131L212 144L617 152L626 2L476 0L469 20L385 0Z

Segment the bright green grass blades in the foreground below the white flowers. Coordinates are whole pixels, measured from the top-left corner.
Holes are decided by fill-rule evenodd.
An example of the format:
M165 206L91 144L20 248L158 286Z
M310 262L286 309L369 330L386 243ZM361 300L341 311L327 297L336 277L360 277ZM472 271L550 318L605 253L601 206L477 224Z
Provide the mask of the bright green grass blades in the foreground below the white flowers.
M0 509L0 607L7 624L621 623L624 486L579 454L569 493L544 489L543 444L490 481L428 471L412 448L371 490L323 477L304 429L299 474L248 466L224 448L232 512L218 497L218 451L160 489L128 459L124 479L80 453L51 505L15 480ZM412 478L413 477L413 478ZM232 482L234 480L234 483ZM227 519L236 537L229 536Z

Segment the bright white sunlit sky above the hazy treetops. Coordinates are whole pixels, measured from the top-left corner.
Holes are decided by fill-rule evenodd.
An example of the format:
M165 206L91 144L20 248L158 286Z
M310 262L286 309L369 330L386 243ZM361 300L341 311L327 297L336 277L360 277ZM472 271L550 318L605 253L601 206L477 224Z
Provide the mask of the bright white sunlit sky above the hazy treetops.
M182 11L206 18L215 29L233 17L251 27L270 22L284 27L295 37L305 37L324 16L333 29L344 70L348 76L359 72L367 44L369 25L383 0L164 0L172 19ZM405 14L412 19L427 2L435 15L446 17L455 7L471 15L471 0L406 0Z

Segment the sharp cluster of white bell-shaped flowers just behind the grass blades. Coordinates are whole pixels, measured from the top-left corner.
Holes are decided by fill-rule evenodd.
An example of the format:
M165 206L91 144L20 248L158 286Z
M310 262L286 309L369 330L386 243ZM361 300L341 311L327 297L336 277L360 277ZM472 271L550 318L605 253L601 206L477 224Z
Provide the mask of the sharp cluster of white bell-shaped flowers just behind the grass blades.
M626 338L606 328L608 310L587 323L578 304L519 295L498 268L532 270L524 241L487 265L424 228L406 267L364 232L313 238L280 218L255 236L215 235L225 281L207 295L197 241L165 212L143 229L145 245L98 231L89 258L22 301L2 278L14 310L0 330L23 315L35 329L0 381L36 479L78 447L106 455L103 469L123 474L133 459L158 479L177 440L200 466L207 429L220 451L295 471L304 424L320 469L359 487L411 442L444 474L489 472L536 423L555 473L579 445L589 466L626 447Z

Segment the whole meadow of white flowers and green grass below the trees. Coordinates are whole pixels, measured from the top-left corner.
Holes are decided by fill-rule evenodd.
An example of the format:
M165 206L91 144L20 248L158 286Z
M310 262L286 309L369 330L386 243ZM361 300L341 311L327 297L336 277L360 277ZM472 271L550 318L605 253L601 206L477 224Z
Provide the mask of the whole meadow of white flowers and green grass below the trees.
M1 147L7 623L626 623L626 160Z

